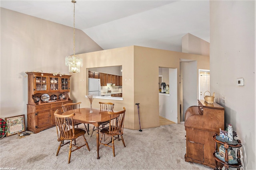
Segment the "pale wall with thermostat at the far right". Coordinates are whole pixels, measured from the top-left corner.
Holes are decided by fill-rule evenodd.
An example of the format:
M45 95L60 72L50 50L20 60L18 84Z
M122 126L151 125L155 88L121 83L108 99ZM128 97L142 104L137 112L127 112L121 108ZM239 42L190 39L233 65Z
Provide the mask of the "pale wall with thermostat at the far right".
M210 89L225 108L225 128L232 124L244 145L247 170L256 167L255 9L255 1L210 1Z

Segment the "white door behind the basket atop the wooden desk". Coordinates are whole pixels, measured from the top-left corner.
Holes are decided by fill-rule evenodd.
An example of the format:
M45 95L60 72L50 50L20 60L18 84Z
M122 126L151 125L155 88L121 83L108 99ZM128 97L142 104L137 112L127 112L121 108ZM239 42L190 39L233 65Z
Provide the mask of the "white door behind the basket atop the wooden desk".
M210 70L198 70L198 89L199 100L204 100L204 93L210 92ZM207 92L205 95L210 95L210 93Z

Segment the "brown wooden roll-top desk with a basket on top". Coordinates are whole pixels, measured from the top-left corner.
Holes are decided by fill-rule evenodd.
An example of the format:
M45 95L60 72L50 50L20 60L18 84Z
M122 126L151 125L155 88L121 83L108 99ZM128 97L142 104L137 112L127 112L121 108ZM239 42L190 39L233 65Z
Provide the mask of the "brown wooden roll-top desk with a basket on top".
M215 151L212 136L224 129L224 107L198 100L185 113L186 162L195 162L215 168L212 153ZM221 164L220 164L221 165Z

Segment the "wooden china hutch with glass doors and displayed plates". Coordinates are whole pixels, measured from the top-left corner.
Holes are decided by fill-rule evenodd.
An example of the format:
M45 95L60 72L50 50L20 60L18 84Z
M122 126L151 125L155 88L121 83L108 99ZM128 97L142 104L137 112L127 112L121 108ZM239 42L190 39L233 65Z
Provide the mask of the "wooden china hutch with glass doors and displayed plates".
M41 72L28 74L28 131L38 133L55 126L54 112L63 113L62 104L72 103L69 98L70 75Z

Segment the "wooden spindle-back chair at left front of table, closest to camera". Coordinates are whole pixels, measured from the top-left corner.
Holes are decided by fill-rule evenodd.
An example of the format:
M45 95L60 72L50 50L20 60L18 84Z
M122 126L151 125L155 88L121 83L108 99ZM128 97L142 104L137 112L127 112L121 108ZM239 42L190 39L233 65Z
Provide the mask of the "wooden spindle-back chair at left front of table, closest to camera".
M60 148L69 143L70 144L69 152L68 152L68 164L69 164L71 152L77 149L80 149L85 145L89 151L90 151L90 148L84 137L84 134L86 133L86 131L84 129L74 128L73 116L76 113L72 113L70 115L61 115L57 113L58 113L58 109L54 112L56 131L57 131L58 141L60 142L56 156L58 156ZM70 121L66 121L66 119L70 119ZM72 141L74 141L80 136L84 137L85 144L80 147L76 146L76 144L73 145ZM64 140L68 140L68 141L64 143ZM76 149L72 150L72 147L76 147Z

